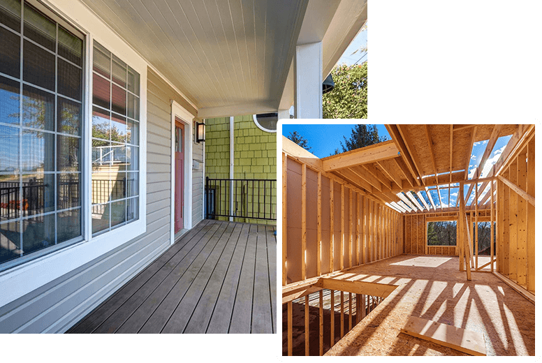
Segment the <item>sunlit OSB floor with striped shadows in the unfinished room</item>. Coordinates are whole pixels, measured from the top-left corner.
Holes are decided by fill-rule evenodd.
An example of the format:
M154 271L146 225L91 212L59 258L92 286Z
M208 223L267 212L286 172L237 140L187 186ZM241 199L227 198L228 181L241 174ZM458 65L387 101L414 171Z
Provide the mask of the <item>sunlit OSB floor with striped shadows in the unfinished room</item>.
M458 270L457 257L400 255L337 279L398 287L325 355L466 355L400 332L409 316L483 334L487 355L534 355L534 304L496 276Z

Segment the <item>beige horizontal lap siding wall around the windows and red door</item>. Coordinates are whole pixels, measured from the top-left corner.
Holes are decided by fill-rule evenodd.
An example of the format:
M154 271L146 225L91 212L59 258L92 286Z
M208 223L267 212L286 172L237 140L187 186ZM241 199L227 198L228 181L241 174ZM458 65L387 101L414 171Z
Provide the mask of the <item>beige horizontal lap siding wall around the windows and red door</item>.
M0 333L65 332L170 246L171 100L197 112L159 75L147 72L145 233L0 306ZM203 155L203 145L194 144L193 158L203 161ZM196 225L203 219L203 163L192 181Z

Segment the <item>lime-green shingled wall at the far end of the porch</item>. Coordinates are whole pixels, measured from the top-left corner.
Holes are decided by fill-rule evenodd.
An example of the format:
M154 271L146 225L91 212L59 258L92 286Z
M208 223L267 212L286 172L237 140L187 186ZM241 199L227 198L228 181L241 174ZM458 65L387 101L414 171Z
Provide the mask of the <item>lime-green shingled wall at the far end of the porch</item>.
M233 178L277 180L277 133L268 133L258 128L252 115L234 117L233 124ZM205 176L211 179L229 179L230 118L206 119L205 125ZM272 213L276 213L276 187L272 188L269 196L272 200ZM240 200L239 195L237 200ZM276 224L276 221L253 218L236 218L236 221Z

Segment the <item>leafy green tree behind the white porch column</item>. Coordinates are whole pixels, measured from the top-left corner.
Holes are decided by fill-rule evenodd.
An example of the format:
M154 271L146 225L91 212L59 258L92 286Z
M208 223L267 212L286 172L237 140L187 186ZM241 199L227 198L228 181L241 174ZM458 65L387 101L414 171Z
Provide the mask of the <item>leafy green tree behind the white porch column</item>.
M367 119L367 61L335 66L335 88L322 96L324 119Z

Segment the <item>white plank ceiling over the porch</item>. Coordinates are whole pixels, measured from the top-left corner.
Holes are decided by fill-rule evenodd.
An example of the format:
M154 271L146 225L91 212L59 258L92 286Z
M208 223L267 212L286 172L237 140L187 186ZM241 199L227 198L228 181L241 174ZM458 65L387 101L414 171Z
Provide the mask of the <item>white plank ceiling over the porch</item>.
M366 0L81 1L202 118L276 111L291 98L285 85L298 38L332 38L323 43L329 73L367 19Z

